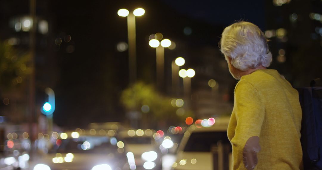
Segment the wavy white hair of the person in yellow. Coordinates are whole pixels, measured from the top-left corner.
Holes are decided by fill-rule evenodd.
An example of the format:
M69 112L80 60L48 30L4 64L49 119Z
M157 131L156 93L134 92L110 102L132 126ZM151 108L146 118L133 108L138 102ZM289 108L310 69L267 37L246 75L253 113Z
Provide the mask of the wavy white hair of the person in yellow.
M231 64L246 71L260 65L270 66L272 54L268 48L264 33L250 22L237 22L223 30L220 41L221 52L226 60L231 58Z

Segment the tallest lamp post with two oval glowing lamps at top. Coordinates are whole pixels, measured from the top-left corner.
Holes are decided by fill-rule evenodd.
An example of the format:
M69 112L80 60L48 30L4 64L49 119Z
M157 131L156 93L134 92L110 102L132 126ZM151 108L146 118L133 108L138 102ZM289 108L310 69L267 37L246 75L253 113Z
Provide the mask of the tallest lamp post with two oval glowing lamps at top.
M136 30L135 17L145 14L143 8L137 8L130 13L127 9L119 9L118 15L128 19L128 66L129 66L129 83L134 83L137 79L137 51L136 51Z

